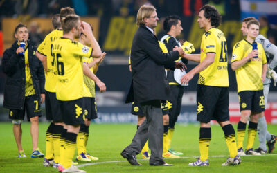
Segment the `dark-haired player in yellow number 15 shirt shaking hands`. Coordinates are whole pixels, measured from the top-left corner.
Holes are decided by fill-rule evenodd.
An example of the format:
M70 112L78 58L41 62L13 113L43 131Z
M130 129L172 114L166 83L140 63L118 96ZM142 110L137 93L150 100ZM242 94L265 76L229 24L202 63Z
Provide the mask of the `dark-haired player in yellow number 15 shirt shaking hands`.
M197 84L197 120L200 122L200 157L190 166L208 166L208 148L211 141L211 120L217 120L224 131L230 157L226 165L241 163L235 143L235 130L229 121L229 78L227 45L224 33L217 29L221 16L217 9L205 5L199 10L197 22L205 30L202 35L201 54L185 54L188 60L200 62L181 78L187 84L199 73Z

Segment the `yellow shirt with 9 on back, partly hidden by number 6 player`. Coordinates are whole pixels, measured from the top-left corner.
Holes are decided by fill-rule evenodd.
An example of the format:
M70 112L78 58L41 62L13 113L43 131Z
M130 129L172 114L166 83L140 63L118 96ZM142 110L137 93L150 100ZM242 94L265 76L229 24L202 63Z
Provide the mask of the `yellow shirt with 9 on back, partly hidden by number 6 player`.
M47 59L47 73L46 73L46 78L45 78L45 90L48 92L55 93L55 87L57 83L57 69L56 69L56 61L55 58L52 55L51 48L53 46L53 42L56 39L60 39L63 35L63 31L56 29L53 30L51 33L46 35L44 42L39 45L44 46L44 49L42 51L42 54L46 56ZM43 45L44 43L44 45ZM38 51L40 48L38 48ZM41 53L39 51L39 53Z

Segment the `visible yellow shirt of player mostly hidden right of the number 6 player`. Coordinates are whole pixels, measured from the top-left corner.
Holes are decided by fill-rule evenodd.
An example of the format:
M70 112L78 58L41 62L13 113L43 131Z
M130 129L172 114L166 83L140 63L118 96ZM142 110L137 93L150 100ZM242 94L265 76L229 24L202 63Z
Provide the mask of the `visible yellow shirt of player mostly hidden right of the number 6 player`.
M93 57L83 57L82 62L89 64L93 61ZM93 66L90 68L91 73L93 73ZM95 98L95 82L91 78L84 75L84 97Z

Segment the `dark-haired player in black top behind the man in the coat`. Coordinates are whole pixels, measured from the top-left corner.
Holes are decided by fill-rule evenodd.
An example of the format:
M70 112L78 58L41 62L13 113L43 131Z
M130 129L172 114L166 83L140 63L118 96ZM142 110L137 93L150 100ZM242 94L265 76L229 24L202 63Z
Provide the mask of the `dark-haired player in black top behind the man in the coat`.
M176 39L179 35L181 35L181 31L183 30L181 26L181 18L178 17L177 15L172 15L166 17L165 21L163 21L163 30L165 30L166 35L164 35L161 38L161 42L166 45L166 48L168 51L172 51L175 46L181 47L181 43ZM185 42L186 45L190 44L188 42ZM192 45L192 44L191 44ZM191 48L190 48L191 50ZM188 53L187 50L184 50L185 53ZM191 53L191 52L190 52ZM184 62L185 64L188 64L188 60L184 58L179 58L176 62ZM168 138L167 138L167 144L163 145L168 145L168 152L179 156L182 155L183 153L177 152L174 149L170 147L171 141L172 141L172 136L175 131L175 123L177 122L178 116L181 111L181 100L184 94L184 86L181 84L178 84L175 80L175 71L166 71L169 86L170 86L170 99L168 102L170 102L170 107L169 107L169 125L165 128L168 130Z

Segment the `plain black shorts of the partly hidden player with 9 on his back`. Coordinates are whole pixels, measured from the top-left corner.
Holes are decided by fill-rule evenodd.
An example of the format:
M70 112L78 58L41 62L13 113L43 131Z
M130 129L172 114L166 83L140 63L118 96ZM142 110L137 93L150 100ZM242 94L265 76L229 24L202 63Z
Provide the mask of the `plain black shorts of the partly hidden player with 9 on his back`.
M62 122L62 110L59 106L59 101L56 98L56 93L45 93L45 109L46 119L53 120L54 122Z

